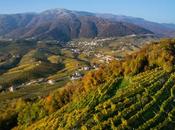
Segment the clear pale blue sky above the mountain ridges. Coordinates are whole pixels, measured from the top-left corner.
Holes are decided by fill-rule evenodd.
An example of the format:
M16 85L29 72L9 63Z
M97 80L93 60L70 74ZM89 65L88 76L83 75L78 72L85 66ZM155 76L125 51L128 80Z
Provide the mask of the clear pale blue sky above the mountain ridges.
M0 0L0 14L42 12L55 8L175 23L175 0Z

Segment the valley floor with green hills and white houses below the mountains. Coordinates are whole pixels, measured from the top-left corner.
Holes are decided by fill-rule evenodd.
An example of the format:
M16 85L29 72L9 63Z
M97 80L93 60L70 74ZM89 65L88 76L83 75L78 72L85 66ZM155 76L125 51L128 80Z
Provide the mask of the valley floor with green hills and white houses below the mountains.
M139 50L144 44L149 44L150 41L157 39L152 35L142 35L106 39L78 39L65 44L59 44L56 41L24 40L17 41L16 46L8 41L6 48L9 57L6 56L7 54L3 55L3 52L1 56L3 59L0 77L1 95L4 97L6 97L6 93L15 95L10 91L23 95L22 93L25 93L26 90L30 93L28 88L31 88L31 92L36 89L36 93L38 93L37 90L40 91L40 88L48 91L49 86L52 90L54 86L63 86L63 83L70 80L81 79L86 72L98 69L101 64L109 63L112 60L123 60L126 54ZM18 42L21 45L18 45ZM10 47L11 44L19 50L12 52L14 48ZM20 50L20 47L24 46L23 44L30 45L27 49ZM15 61L12 62L12 59L16 61L16 64ZM9 61L12 63L10 64ZM26 96L28 97L28 95Z

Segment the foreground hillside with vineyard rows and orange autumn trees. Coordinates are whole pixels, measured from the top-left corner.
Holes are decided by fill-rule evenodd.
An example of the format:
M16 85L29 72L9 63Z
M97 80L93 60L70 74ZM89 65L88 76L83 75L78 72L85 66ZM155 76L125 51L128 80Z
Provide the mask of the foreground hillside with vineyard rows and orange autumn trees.
M8 101L3 107L13 107L0 109L1 127L9 128L8 122L13 130L173 130L174 65L173 39L147 44L47 96Z

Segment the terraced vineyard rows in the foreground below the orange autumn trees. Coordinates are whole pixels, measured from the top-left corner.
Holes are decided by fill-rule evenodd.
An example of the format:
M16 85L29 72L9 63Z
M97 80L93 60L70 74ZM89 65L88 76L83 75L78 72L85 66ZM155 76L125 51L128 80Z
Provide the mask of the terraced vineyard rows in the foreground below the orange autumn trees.
M69 103L28 129L173 129L175 73L156 68L130 77L112 77L79 102ZM115 80L114 80L115 79Z

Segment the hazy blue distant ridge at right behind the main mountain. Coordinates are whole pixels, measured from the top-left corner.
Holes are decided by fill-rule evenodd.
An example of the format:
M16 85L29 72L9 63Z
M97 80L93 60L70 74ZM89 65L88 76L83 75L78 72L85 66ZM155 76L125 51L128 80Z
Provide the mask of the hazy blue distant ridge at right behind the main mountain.
M117 22L126 22L130 24L135 24L137 26L148 29L158 36L161 37L174 37L175 36L175 24L161 24L156 22L151 22L144 20L142 18L135 18L123 15L113 15L113 14L96 14L96 16L101 18L106 18L108 20Z

